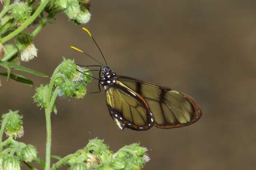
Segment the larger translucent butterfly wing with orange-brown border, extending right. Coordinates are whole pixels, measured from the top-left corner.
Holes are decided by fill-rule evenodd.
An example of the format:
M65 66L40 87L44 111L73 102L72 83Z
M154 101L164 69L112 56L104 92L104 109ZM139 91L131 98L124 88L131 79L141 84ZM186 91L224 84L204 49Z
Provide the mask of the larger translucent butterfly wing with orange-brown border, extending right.
M146 100L155 118L155 127L183 127L196 122L201 117L201 109L185 93L127 76L118 76L118 78Z

